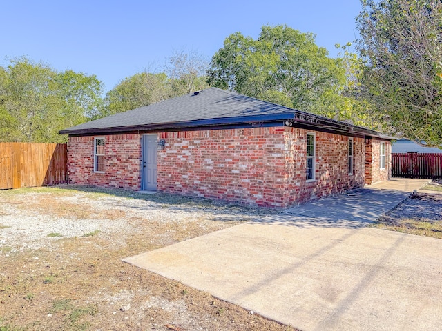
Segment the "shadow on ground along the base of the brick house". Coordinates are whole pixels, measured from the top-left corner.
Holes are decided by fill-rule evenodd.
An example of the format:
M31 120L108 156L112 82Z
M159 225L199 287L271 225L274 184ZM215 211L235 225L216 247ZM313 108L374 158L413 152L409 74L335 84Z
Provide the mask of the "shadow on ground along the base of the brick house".
M398 201L403 201L410 195L409 192L399 190L361 188L286 210L276 210L197 197L184 197L177 194L138 194L132 190L97 188L93 185L59 185L59 188L160 203L163 208L168 208L171 212L200 208L201 210L218 210L224 214L236 216L243 213L253 216L253 223L287 225L298 228L361 228L376 221L379 215L385 214L394 208ZM157 205L146 207L131 205L128 207L134 209L158 208Z

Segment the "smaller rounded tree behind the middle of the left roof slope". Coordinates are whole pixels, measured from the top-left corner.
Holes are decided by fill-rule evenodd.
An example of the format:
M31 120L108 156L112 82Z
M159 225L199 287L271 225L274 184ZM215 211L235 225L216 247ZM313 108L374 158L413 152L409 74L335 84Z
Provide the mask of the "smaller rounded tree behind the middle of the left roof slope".
M172 83L166 74L137 73L122 80L106 94L106 106L96 117L148 106L173 96Z

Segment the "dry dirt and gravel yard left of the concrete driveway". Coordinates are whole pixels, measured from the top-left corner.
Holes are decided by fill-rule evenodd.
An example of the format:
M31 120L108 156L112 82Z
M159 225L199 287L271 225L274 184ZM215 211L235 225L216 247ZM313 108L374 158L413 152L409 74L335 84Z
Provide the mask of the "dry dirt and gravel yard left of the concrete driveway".
M0 191L0 330L294 330L120 261L263 213L122 190Z

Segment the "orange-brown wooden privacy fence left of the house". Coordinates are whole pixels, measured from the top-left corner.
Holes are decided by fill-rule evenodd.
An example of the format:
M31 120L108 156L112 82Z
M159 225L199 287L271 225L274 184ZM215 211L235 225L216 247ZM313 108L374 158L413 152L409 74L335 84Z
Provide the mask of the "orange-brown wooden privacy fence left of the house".
M66 143L0 143L0 189L67 183Z

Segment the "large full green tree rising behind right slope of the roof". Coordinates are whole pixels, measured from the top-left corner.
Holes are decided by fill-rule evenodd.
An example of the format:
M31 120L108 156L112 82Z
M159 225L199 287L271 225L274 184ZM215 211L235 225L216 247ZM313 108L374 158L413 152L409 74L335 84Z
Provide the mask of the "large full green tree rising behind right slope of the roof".
M343 59L328 57L314 34L287 26L263 26L257 40L240 32L224 40L211 60L212 86L328 117L346 83Z

